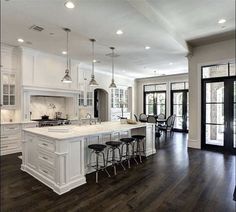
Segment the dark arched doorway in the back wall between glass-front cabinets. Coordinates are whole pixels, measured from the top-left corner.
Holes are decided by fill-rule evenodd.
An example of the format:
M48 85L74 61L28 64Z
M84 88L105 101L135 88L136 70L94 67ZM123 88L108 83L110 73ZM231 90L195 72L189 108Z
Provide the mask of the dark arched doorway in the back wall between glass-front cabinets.
M108 121L108 92L101 88L94 90L94 117Z

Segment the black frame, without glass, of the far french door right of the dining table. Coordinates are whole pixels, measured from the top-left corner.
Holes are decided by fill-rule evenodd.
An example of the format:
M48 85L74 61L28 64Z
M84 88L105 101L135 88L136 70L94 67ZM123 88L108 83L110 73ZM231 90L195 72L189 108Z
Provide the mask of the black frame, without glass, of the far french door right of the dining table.
M188 105L187 105L187 95L188 95L188 89L180 89L180 90L171 90L171 99L170 99L170 104L171 104L171 115L174 113L174 100L173 96L174 93L183 93L183 123L182 123L182 129L177 129L174 128L174 131L176 132L186 132L188 133L188 128L187 128L187 111L188 111Z

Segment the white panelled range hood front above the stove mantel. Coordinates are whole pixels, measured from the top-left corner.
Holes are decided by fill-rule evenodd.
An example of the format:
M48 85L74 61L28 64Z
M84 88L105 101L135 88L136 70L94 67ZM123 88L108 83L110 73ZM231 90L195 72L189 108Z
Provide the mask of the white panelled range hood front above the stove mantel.
M71 84L62 83L65 75L66 58L52 54L22 49L22 83L23 86L49 89L78 89L78 61L71 60Z

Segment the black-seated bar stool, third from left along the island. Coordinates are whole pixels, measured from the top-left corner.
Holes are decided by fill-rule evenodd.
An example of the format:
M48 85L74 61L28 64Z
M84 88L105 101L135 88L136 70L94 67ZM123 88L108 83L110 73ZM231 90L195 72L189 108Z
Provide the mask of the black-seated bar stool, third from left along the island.
M128 168L130 168L130 159L133 158L134 161L138 164L137 160L135 159L135 155L134 155L134 138L121 138L120 141L122 142L122 146L121 146L121 160L124 157L125 160L127 160L128 162ZM126 146L126 151L125 151L125 155L124 153L124 146ZM130 153L130 147L131 147L131 151L132 153Z

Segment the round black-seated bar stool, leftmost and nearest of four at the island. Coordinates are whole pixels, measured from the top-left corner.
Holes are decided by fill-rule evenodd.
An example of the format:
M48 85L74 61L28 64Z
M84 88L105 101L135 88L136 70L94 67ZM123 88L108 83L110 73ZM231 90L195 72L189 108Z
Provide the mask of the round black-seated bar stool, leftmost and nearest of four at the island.
M111 177L111 175L109 174L109 172L107 171L106 169L106 161L105 161L105 155L104 155L104 149L106 148L106 145L103 145L103 144L91 144L91 145L88 145L88 148L89 149L92 149L91 153L90 153L90 161L89 161L89 164L91 165L91 157L93 154L96 155L96 161L95 161L95 165L94 166L91 166L93 168L95 168L96 170L96 183L98 183L98 172L100 170L105 170L108 177ZM102 155L103 157L103 166L100 166L99 165L99 155Z

